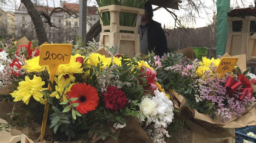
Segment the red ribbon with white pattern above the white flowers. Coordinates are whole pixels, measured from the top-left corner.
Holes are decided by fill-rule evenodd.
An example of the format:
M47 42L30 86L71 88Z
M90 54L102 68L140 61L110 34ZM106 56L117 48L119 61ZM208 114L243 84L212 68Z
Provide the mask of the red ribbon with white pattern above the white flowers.
M151 70L150 68L145 67L145 66L142 66L141 68L142 68L141 73L143 73L144 70L146 70L145 73L144 73L144 76L147 76L147 77L145 77L145 79L147 81L146 84L147 84L147 86L150 85L150 87L146 88L146 89L151 90L152 92L154 92L154 90L157 89L157 84L154 83L154 82L157 81L157 78L156 78L157 73L155 71ZM143 77L143 75L140 75L140 77ZM142 80L140 81L140 84L142 84Z

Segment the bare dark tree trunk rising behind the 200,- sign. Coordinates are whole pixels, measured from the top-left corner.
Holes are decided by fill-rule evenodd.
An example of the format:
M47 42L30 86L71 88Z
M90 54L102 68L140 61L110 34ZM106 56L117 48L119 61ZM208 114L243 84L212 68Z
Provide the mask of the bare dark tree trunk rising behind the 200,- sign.
M36 35L38 38L38 45L48 42L47 34L43 26L42 18L38 14L31 0L21 0L27 8L36 30Z

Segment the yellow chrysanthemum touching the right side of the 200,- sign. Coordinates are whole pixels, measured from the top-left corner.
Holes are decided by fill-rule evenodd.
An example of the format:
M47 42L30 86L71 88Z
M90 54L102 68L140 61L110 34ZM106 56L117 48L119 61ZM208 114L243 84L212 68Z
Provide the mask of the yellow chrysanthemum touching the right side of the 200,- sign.
M81 68L81 66L81 63L76 62L76 57L71 56L70 62L68 64L59 65L55 75L58 75L58 79L61 79L61 77L66 74L70 75L71 73L83 73L83 68Z

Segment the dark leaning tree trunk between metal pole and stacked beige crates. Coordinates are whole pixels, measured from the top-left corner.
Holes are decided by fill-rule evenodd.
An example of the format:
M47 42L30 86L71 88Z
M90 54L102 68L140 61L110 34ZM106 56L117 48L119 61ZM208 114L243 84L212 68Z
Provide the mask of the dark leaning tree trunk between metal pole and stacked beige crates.
M96 38L101 32L101 23L98 20L95 24L92 25L91 29L86 34L86 45L88 41L92 41L92 38Z

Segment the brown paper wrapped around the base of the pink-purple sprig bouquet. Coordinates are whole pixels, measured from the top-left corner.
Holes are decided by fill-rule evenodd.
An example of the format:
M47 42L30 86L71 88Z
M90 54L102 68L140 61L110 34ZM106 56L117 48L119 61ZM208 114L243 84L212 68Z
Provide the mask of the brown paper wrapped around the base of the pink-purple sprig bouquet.
M182 95L174 91L171 91L171 95L173 97L174 107L180 111L177 112L176 115L185 119L188 122L187 127L192 131L207 138L231 137L233 135L225 128L256 125L256 109L252 107L255 103L250 105L241 117L232 116L232 119L224 123L219 116L214 116L215 119L212 119L209 115L204 115L197 112L195 109L184 106L186 99Z

